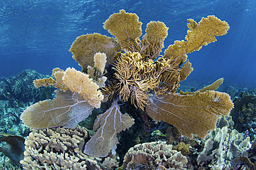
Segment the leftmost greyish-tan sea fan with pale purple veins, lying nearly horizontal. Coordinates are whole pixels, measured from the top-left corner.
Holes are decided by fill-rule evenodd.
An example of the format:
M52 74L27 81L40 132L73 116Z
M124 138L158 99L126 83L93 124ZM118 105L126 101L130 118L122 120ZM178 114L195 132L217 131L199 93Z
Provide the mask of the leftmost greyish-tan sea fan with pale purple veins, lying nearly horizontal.
M35 129L69 128L88 118L93 109L75 92L58 90L53 100L43 100L27 107L21 114L21 120L24 125Z

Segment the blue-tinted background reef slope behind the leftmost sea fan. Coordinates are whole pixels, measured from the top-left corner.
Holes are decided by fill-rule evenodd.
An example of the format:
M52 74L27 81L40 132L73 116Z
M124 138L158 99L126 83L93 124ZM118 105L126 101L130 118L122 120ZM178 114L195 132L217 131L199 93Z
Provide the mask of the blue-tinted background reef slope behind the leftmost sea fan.
M35 88L33 80L45 75L35 70L24 70L16 76L0 78L0 131L13 135L28 135L28 128L21 124L20 115L33 103L53 97L53 87ZM47 76L46 76L47 77Z

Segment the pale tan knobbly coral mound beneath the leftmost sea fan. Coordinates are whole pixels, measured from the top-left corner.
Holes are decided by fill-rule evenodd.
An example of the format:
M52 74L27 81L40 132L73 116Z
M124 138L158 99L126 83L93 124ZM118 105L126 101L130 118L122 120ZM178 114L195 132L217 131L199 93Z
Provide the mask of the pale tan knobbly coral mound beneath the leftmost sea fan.
M88 140L84 127L70 129L33 129L25 141L21 160L24 169L111 169L118 167L116 158L89 158L82 153Z

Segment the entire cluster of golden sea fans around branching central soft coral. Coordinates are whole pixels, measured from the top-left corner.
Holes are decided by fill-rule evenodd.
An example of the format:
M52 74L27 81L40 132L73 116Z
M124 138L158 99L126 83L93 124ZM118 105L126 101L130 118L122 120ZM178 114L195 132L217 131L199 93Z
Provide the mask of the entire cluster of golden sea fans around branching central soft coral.
M232 109L230 96L215 92L215 86L194 94L178 94L176 90L179 82L192 72L187 54L217 41L215 36L227 33L228 23L214 16L199 23L188 19L190 30L185 41L175 41L163 56L160 52L168 28L160 21L151 21L140 39L141 24L136 14L120 10L104 22L104 29L116 40L98 33L77 37L70 51L82 72L73 68L56 70L55 80L42 81L42 85L60 89L54 100L28 107L21 115L24 124L40 129L75 127L94 107L100 107L104 96L113 104L95 120L93 129L98 131L85 145L84 153L88 155L104 157L110 150L115 153L116 134L134 124L133 118L121 113L118 102L130 102L154 120L174 125L185 136L205 137L215 127L217 118ZM104 63L96 62L97 52L107 56L103 60L105 70Z

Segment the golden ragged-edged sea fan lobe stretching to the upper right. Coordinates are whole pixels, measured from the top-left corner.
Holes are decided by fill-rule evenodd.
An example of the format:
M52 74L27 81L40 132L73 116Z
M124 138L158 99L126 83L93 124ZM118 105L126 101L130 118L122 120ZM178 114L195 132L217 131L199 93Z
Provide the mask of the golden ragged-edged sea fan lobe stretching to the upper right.
M217 41L215 36L222 36L228 32L229 26L226 21L221 21L214 15L202 18L199 24L193 19L188 19L188 34L185 41L175 41L165 50L164 57L176 59L183 54L189 54L194 50L200 50L203 45Z

